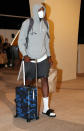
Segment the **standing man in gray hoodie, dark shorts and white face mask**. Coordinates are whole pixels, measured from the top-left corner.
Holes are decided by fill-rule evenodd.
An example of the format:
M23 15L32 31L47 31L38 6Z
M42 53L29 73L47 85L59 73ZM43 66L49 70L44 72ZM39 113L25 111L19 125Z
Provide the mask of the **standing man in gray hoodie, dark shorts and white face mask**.
M48 115L49 117L55 117L56 114L52 109L49 109L48 106L48 74L52 60L49 49L49 25L47 27L45 24L45 12L45 7L43 5L34 6L33 27L28 34L27 32L30 25L30 19L23 22L18 45L22 55L24 56L26 84L27 82L29 83L31 80L35 79L35 61L31 59L37 59L37 74L38 78L41 79L42 84L44 103L43 114ZM26 43L27 37L28 43Z

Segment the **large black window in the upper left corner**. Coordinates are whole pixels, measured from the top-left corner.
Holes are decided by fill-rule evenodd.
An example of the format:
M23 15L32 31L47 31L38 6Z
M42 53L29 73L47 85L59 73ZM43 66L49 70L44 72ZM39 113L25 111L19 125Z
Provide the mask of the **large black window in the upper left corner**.
M28 0L2 0L0 5L1 29L19 29L22 22L30 17Z

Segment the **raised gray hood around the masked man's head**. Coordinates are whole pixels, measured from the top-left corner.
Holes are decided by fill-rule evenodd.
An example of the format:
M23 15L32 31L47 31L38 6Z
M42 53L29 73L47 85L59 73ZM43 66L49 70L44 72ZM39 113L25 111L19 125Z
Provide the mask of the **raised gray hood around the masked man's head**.
M34 20L39 21L38 10L42 7L44 8L44 16L45 16L45 13L46 13L45 7L42 4L34 5L34 7L33 7L33 18L34 18Z

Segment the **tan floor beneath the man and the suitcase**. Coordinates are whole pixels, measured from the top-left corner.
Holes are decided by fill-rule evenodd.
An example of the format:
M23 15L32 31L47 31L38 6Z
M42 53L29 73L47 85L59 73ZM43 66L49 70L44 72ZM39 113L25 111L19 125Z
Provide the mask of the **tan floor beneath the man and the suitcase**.
M41 114L43 104L40 99L41 95L39 95L40 119L29 124L23 119L13 117L15 114L15 87L18 85L16 79L17 71L0 70L0 131L38 131L38 129L44 131L44 126L46 131L51 131L52 126L54 126L52 131L62 131L59 128L64 129L64 126L66 128L63 131L68 131L70 126L62 125L62 122L77 124L75 128L71 124L73 131L84 131L84 77L63 82L52 94L50 106L55 109L57 115L55 119ZM41 94L40 89L39 93Z

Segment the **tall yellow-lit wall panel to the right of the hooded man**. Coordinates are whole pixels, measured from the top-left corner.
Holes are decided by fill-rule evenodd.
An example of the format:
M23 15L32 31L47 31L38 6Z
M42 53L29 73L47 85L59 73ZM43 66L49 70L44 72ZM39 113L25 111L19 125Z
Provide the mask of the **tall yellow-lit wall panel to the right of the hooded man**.
M50 7L50 32L54 31L55 57L62 80L76 79L78 27L81 0L45 0ZM51 24L51 21L53 24ZM53 26L52 26L53 25Z

